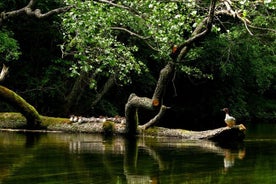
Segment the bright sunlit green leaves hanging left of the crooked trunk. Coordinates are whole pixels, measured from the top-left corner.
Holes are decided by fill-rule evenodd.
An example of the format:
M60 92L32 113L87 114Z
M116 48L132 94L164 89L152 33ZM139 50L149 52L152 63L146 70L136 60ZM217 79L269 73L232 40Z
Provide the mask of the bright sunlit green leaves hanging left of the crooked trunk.
M168 60L171 45L185 40L183 30L190 34L202 18L195 2L117 1L121 7L95 1L66 3L75 7L61 16L66 40L61 48L64 55L76 60L72 75L80 71L93 74L92 88L99 77L115 75L127 84L132 72L148 70L146 63L135 57L145 46L138 40L152 49L148 54L153 58Z

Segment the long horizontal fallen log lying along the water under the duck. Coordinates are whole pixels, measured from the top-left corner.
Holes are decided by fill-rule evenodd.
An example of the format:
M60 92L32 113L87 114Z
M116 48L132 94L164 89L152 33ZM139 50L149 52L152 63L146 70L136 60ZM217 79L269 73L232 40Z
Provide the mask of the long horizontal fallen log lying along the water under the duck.
M127 126L124 123L125 121L121 121L121 123L118 123L110 120L105 122L95 120L77 123L71 122L68 118L53 118L42 116L41 119L41 125L43 127L46 127L46 131L104 134L106 132L105 127L112 127L111 129L108 129L108 131L112 130L111 134L127 135ZM24 121L26 120L22 116L20 116L19 113L0 113L0 128L4 128L1 129L2 131L29 131L18 129L25 124ZM110 124L110 126L106 126L106 124ZM184 129L169 129L163 127L151 127L148 129L144 129L142 126L138 126L136 135L153 137L176 137L190 140L203 139L231 143L234 141L242 141L245 138L245 128L243 127L244 126L241 124L235 125L231 128L221 127L205 131L190 131ZM41 130L41 132L45 132L45 130Z

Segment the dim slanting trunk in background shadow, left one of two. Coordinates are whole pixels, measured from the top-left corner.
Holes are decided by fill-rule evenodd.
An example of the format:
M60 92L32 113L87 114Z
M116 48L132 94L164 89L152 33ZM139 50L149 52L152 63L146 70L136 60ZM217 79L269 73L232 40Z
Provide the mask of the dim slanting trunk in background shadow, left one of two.
M75 81L70 94L66 97L66 104L64 106L65 114L68 114L72 110L72 108L78 103L78 100L80 99L85 86L87 86L87 78L88 74L86 72L82 72Z

